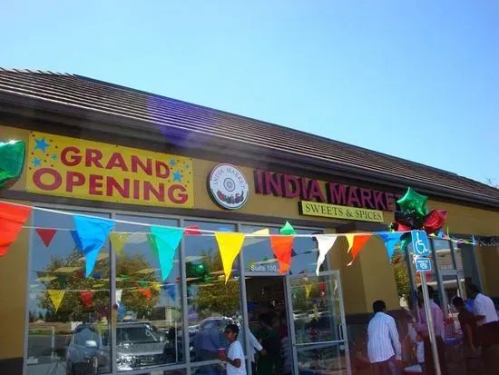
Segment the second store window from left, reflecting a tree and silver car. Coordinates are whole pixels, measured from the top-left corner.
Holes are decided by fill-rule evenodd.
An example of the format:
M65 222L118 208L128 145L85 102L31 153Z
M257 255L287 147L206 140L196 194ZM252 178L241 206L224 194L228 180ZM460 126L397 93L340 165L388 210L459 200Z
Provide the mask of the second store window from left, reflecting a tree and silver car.
M116 215L116 232L127 233L116 254L116 360L118 370L184 362L180 250L171 273L161 267L150 228L128 222L178 227L176 220ZM126 221L119 222L119 221Z

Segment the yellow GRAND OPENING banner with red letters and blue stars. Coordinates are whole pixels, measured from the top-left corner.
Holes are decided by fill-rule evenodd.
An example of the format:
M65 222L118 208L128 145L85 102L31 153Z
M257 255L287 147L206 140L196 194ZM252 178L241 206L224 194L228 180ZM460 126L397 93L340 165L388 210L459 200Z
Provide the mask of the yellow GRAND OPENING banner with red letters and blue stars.
M93 201L192 208L192 160L30 132L26 191Z

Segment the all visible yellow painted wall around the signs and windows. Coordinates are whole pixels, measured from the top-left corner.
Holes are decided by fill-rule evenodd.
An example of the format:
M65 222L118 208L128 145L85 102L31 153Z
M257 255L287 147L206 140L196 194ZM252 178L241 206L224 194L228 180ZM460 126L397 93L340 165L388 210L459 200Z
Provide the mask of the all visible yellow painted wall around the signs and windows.
M0 125L0 138L27 140L28 132ZM193 160L194 205L196 209L214 212L224 211L211 201L206 181L211 169L218 163ZM249 182L249 201L238 212L269 217L282 217L284 220L303 219L298 212L298 199L279 198L255 193L253 168L240 167ZM25 190L25 173L10 187L12 190ZM445 202L429 201L430 209L447 211L450 232L474 233L475 235L499 235L497 223L499 212L487 211ZM189 210L186 210L189 213ZM385 212L385 222L391 222L393 215ZM307 217L308 220L312 219ZM341 222L327 218L314 218L317 222L330 222L331 227ZM334 232L330 230L328 232ZM19 357L23 354L25 282L27 280L28 235L22 235L10 252L0 259L0 298L4 303L0 313L0 358ZM345 308L347 314L371 311L372 302L377 299L386 301L388 309L398 308L396 284L393 269L386 256L381 240L372 238L351 266L351 255L347 253L347 242L338 239L329 253L333 269L341 272ZM478 251L479 264L484 280L484 291L499 296L499 249L483 248ZM15 282L12 282L15 280ZM8 319L7 319L8 318Z

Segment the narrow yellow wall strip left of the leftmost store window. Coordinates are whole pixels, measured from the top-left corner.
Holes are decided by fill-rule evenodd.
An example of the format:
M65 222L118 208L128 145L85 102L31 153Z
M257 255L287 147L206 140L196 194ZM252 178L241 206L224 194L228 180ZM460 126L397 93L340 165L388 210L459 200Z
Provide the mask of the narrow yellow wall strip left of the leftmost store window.
M23 229L0 258L0 360L23 357L28 253L29 230Z

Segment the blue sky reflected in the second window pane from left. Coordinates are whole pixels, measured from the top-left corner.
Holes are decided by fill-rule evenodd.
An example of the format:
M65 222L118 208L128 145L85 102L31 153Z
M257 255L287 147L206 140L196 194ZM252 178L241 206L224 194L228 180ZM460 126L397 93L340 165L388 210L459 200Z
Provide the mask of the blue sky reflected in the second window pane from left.
M143 216L129 216L129 215L116 215L116 220L122 220L122 221L127 221L127 222L142 222L142 223L147 223L151 225L163 225L163 226L170 226L170 227L177 227L179 226L179 222L177 220L170 220L170 219L160 219L160 218L150 218L150 217L143 217ZM143 226L143 225L134 225L130 223L124 223L124 222L116 222L115 226L115 231L116 232L149 232L149 227ZM143 238L143 242L140 243L131 243L127 242L122 249L123 254L127 254L129 256L133 255L142 255L146 262L149 263L148 268L154 269L155 271L155 278L157 281L164 283L173 283L177 278L181 276L181 268L180 268L180 262L179 262L179 250L177 249L177 252L175 253L175 262L173 263L173 267L171 268L171 273L168 276L168 279L165 281L161 281L161 267L160 267L160 261L158 259L158 256L152 252L151 246L149 245L149 242L146 241L145 237ZM120 262L120 257L118 256L116 258L116 263L118 264ZM119 277L119 275L116 275ZM132 275L127 275L132 277ZM174 308L181 308L181 284L180 283L175 283L175 300L172 301L170 298L170 295L168 291L165 291L161 289L160 291L160 299L158 301L157 306L171 306Z

